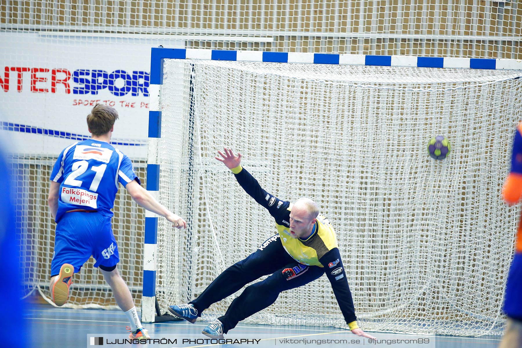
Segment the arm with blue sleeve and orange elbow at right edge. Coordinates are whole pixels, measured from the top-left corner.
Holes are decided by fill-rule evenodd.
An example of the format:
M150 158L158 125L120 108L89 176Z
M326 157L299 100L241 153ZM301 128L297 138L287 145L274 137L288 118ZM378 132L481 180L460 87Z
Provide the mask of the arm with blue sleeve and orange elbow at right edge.
M513 139L513 151L511 154L511 170L506 177L502 196L508 204L518 203L522 198L522 123L518 125Z

